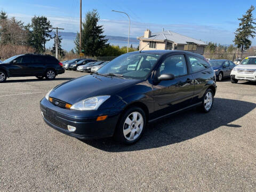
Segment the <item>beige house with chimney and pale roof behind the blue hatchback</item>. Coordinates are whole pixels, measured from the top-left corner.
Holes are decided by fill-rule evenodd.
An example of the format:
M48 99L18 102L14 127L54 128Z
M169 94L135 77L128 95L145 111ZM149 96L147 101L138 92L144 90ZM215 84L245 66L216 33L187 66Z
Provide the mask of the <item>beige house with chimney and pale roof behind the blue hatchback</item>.
M174 33L170 30L151 33L147 29L140 40L140 50L180 50L204 54L203 41Z

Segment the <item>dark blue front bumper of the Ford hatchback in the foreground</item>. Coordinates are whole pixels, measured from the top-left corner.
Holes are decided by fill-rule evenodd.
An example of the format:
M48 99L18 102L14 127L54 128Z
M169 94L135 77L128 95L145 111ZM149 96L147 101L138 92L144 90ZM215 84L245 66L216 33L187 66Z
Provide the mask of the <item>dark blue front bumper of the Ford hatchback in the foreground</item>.
M119 118L118 113L111 113L109 109L98 112L63 109L54 106L45 98L41 100L40 108L46 124L55 130L79 139L113 136ZM108 117L104 121L96 121L97 117L101 115L108 115ZM68 131L67 125L75 126L76 130L74 132Z

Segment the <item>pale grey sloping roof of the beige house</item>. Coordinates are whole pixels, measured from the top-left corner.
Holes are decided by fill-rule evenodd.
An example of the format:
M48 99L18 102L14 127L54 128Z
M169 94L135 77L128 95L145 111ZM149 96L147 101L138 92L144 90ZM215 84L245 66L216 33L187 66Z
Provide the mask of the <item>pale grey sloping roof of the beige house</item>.
M207 45L203 41L198 39L190 38L184 35L180 35L178 33L174 33L173 31L161 31L158 33L152 33L149 38L145 38L144 36L138 37L140 40L148 40L148 41L170 41L177 44L188 44L195 43L197 45Z

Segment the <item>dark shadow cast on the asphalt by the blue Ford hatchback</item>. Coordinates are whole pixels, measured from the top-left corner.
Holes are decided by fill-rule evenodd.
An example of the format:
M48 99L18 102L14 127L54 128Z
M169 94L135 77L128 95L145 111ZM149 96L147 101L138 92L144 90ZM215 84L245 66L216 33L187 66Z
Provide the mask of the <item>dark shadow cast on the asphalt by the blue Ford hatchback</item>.
M132 146L122 145L111 138L83 140L82 142L113 153L172 145L198 137L221 126L227 126L226 129L242 129L241 125L233 122L255 107L256 104L252 102L214 98L213 108L207 114L191 109L147 125L147 130L141 140Z

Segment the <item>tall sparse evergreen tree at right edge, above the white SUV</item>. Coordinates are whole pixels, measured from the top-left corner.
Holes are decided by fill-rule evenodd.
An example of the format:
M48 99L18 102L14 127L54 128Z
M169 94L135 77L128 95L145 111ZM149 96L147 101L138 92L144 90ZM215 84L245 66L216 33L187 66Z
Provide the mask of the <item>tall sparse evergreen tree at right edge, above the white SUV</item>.
M250 9L246 11L246 14L243 15L242 18L238 20L241 21L239 23L239 28L235 32L235 40L234 43L237 45L237 48L241 48L243 53L244 49L249 49L252 42L250 41L250 37L255 37L255 22L253 22L252 11L255 9L254 6L251 5Z

